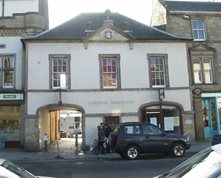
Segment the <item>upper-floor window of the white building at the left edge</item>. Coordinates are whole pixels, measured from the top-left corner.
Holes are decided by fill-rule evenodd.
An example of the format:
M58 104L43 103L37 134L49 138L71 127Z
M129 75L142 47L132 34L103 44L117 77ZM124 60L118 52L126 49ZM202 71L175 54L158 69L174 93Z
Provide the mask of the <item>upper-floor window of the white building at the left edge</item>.
M0 55L0 87L14 88L15 86L15 56Z

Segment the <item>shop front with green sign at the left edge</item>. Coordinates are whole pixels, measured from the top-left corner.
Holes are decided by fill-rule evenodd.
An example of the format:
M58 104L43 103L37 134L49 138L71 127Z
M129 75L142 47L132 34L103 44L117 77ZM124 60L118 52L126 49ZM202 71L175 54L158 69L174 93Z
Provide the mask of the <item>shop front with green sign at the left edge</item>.
M2 148L21 144L23 93L0 93L0 140Z

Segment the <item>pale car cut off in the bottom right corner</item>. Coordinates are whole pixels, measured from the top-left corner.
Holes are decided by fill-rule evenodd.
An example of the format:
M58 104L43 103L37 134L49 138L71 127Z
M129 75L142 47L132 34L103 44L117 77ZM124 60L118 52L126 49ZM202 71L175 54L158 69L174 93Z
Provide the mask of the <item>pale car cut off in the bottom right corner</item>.
M166 174L155 178L220 178L221 144L206 148Z

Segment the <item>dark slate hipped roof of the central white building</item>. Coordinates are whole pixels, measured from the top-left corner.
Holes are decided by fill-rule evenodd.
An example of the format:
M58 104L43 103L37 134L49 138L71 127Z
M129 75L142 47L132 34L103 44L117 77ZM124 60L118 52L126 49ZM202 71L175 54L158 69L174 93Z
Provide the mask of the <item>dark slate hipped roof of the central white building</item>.
M149 27L119 13L109 11L109 17L107 17L107 11L105 13L82 13L58 27L25 40L82 40L86 36L85 30L96 31L103 26L104 20L107 18L113 21L114 28L126 33L126 36L132 37L133 40L190 40Z

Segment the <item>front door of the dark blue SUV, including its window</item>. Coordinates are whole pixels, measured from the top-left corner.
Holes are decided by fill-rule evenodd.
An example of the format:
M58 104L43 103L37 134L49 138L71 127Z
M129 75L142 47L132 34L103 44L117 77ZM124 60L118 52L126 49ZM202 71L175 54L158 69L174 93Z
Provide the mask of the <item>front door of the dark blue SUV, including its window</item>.
M167 147L167 139L164 132L152 124L142 125L143 130L143 151L144 153L164 152Z

